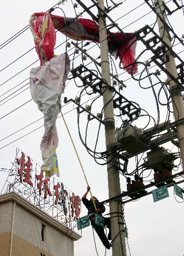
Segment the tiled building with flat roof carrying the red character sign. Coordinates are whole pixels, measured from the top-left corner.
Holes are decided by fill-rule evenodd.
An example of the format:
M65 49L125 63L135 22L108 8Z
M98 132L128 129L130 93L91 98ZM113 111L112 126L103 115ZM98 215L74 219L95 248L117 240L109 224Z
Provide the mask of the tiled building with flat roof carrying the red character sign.
M15 192L0 195L0 256L73 256L80 234Z

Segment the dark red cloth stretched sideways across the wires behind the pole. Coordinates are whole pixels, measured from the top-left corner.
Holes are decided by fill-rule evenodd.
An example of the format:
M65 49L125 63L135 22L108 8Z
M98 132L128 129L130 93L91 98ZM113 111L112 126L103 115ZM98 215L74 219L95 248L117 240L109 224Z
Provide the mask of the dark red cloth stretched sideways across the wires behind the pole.
M31 19L44 16L46 13L34 13ZM85 18L65 18L58 15L50 14L54 28L74 40L90 40L99 43L99 26L93 20ZM31 20L30 19L30 20ZM122 67L128 74L137 73L137 63L135 62L136 53L136 36L134 33L121 32L112 33L113 36L107 35L109 52L112 56L121 60Z

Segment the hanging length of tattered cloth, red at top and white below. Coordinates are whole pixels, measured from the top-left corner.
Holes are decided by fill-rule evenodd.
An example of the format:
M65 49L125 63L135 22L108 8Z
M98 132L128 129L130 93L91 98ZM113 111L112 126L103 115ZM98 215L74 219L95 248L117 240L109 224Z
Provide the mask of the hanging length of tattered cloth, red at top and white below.
M70 71L70 59L68 54L54 55L56 30L49 13L31 16L30 29L40 59L40 66L30 71L30 91L38 109L44 114L45 132L40 144L43 159L41 169L46 172L46 177L54 174L59 177L56 119L61 111L61 94Z

